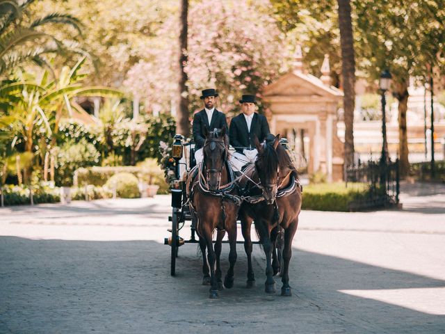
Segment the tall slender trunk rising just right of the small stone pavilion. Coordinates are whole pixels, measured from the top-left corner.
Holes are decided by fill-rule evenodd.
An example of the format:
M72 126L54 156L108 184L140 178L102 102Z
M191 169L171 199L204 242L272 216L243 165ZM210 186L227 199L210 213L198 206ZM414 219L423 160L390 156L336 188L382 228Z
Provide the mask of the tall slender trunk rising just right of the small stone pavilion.
M354 161L355 56L350 0L337 0L341 44L341 75L343 76L343 109L345 122L345 167Z

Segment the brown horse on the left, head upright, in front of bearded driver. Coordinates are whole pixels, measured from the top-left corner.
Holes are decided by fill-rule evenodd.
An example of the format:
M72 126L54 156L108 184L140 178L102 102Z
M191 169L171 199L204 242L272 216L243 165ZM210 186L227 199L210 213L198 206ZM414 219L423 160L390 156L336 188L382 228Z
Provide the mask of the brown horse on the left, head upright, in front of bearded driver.
M241 200L237 196L238 188L233 182L232 168L227 163L229 143L225 128L205 132L204 136L206 136L203 147L204 159L202 164L191 170L186 189L196 232L200 237L204 274L202 284L210 283L210 298L218 298L218 289L223 289L220 254L226 230L229 234L230 267L225 276L224 286L231 288L234 285L236 217ZM213 250L212 234L215 229L218 229L218 233Z

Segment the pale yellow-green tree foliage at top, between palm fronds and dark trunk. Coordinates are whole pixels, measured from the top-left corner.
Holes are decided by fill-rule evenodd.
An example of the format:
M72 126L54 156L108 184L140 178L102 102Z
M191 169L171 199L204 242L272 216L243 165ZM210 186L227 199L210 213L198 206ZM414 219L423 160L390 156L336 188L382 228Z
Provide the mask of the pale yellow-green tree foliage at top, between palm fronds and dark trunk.
M177 9L178 2L173 0L41 0L31 7L34 15L62 11L79 17L86 31L79 42L97 61L97 72L88 78L88 84L114 87L121 86L129 68L140 59L152 59L153 48L175 45L177 39L158 40L156 36ZM52 32L62 35L65 31ZM56 63L56 67L62 65Z

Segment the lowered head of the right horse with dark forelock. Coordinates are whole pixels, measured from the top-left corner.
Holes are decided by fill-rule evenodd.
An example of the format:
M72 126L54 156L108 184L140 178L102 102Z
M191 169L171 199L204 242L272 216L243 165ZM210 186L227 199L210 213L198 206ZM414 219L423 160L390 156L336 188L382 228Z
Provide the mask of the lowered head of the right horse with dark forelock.
M277 156L277 146L280 143L280 134L277 134L277 136L268 135L264 144L259 143L257 136L255 136L254 143L258 151L255 169L259 177L259 186L267 204L272 204L278 190L280 164Z

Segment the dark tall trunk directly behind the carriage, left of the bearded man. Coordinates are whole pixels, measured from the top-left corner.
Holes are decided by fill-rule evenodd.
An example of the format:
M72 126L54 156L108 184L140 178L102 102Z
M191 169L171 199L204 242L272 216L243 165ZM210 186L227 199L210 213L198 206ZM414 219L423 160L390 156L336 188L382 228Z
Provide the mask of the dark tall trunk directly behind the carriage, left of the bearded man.
M189 125L188 125L188 88L187 84L187 73L184 67L187 63L187 35L188 35L188 0L181 0L180 6L181 19L179 23L179 84L178 84L178 107L177 107L177 134L182 134L188 136Z

